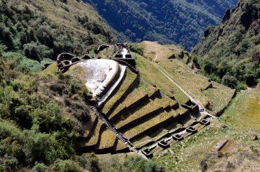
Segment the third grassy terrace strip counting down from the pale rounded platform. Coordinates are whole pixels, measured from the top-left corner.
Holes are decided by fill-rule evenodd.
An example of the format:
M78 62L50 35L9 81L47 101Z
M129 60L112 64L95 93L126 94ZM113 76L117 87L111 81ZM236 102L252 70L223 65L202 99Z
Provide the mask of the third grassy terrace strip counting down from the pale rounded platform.
M154 100L150 99L150 101L145 106L136 109L135 112L122 116L123 119L116 123L116 128L120 129L120 127L141 119L143 116L146 116L151 112L155 112L155 110L161 109L157 112L164 111L164 108L166 108L167 106L172 106L172 104L175 103L176 101L173 101L172 99L168 99L166 97L159 97Z

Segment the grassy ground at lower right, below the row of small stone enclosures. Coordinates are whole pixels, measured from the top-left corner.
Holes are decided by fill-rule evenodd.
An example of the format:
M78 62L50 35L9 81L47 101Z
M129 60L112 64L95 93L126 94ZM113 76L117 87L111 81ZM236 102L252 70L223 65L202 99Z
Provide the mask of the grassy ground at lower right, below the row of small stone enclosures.
M200 162L211 153L218 141L227 139L235 144L233 149L225 150L222 156L209 160L209 171L229 171L229 164L233 164L237 171L257 171L260 157L255 150L259 150L260 143L250 140L250 134L260 135L257 123L259 98L259 93L255 91L239 93L219 120L162 151L153 160L166 171L201 171ZM244 120L251 117L252 121ZM239 163L237 160L240 160Z

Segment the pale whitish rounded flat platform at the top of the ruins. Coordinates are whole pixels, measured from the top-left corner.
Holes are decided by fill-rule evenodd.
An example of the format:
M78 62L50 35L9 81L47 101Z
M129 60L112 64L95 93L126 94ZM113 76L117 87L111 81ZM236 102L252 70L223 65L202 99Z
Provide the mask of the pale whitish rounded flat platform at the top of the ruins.
M93 97L98 97L120 72L118 62L107 59L85 60L76 64L86 71L86 87Z

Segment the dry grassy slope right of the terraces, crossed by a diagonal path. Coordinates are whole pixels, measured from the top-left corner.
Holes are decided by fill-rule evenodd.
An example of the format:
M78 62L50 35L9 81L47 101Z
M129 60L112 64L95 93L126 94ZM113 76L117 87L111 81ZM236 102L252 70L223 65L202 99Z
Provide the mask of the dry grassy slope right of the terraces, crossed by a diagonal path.
M168 81L164 75L159 73L149 61L156 61L157 64L170 75L174 82L177 82L181 88L194 97L196 101L199 101L203 106L210 104L209 110L213 114L221 112L231 101L235 90L209 82L207 77L194 73L189 66L183 63L183 60L168 59L173 53L179 54L182 51L180 47L174 45L161 46L155 42L141 42L140 44L145 50L145 58L136 55L138 69L140 70L141 75L168 94L169 92L171 94L171 92L175 91L176 93L174 93L174 96L177 98L177 101L183 103L185 95L182 95L178 88L174 88L172 83ZM159 60L154 60L158 53L160 54ZM153 73L153 75L151 75L151 73ZM214 84L216 88L207 90L211 84Z

